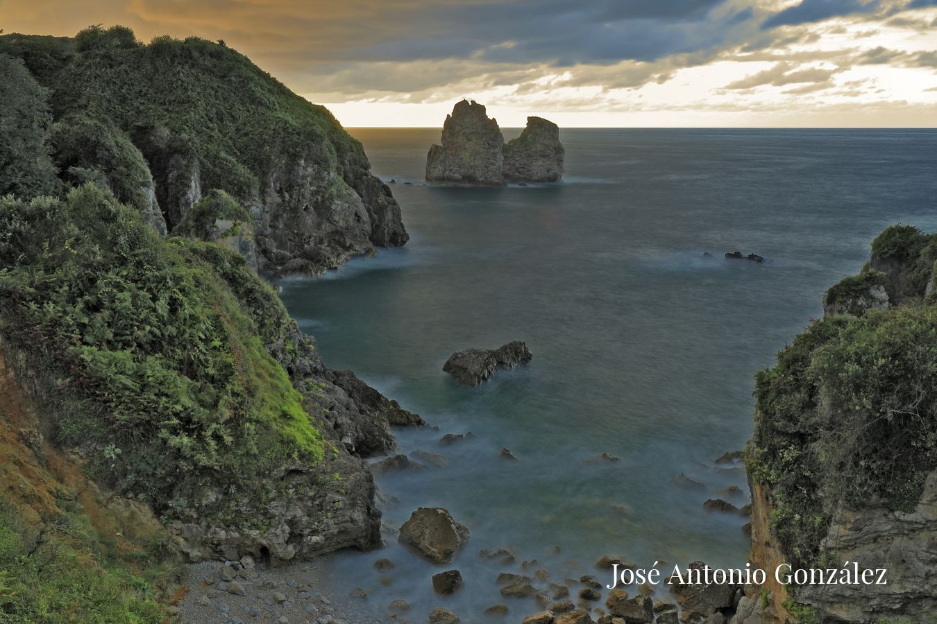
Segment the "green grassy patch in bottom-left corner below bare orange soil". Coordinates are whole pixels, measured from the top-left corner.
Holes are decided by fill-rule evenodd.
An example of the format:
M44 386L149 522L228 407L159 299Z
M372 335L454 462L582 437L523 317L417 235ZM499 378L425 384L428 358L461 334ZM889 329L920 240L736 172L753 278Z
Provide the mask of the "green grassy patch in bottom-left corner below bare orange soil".
M0 498L0 620L7 624L165 621L156 585L169 565L135 572L146 555L118 552L97 534L78 503L41 527L31 527ZM138 559L138 560L132 560Z

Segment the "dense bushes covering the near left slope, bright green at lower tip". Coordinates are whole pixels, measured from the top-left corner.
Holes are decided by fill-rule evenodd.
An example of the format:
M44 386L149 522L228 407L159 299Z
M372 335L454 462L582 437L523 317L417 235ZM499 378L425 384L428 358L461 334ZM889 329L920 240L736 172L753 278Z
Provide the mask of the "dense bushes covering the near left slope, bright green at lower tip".
M67 399L60 437L157 511L199 507L206 487L263 504L259 475L323 455L264 349L288 322L269 286L215 245L160 239L94 185L0 200L0 308L4 337Z

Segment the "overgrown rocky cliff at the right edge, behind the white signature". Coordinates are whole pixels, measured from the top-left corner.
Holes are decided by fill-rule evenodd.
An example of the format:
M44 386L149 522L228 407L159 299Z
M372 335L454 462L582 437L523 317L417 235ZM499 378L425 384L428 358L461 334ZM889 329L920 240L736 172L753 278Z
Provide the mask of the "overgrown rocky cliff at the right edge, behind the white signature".
M779 621L937 616L935 260L937 236L888 228L862 272L827 291L825 318L757 376L746 458L753 565L848 561L884 568L888 581L769 584Z

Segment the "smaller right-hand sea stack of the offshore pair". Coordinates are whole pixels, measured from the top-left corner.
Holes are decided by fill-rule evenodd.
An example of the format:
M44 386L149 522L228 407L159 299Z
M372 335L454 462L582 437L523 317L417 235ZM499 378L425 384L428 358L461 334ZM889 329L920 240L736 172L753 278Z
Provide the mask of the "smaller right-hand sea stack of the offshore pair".
M528 117L518 138L504 145L502 172L508 181L558 181L563 177L566 150L559 142L556 123Z

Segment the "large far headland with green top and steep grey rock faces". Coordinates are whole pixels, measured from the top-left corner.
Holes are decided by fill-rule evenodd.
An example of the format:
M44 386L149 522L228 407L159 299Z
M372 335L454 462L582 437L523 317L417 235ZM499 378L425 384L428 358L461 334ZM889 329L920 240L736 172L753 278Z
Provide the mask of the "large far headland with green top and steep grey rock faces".
M28 70L17 78L38 146L52 123L51 163L23 171L28 184L0 179L0 193L44 192L52 170L71 186L106 186L172 233L202 195L224 191L251 216L261 270L318 274L409 239L361 143L223 44L142 45L124 27L91 27L74 38L0 36L10 65L5 55Z

